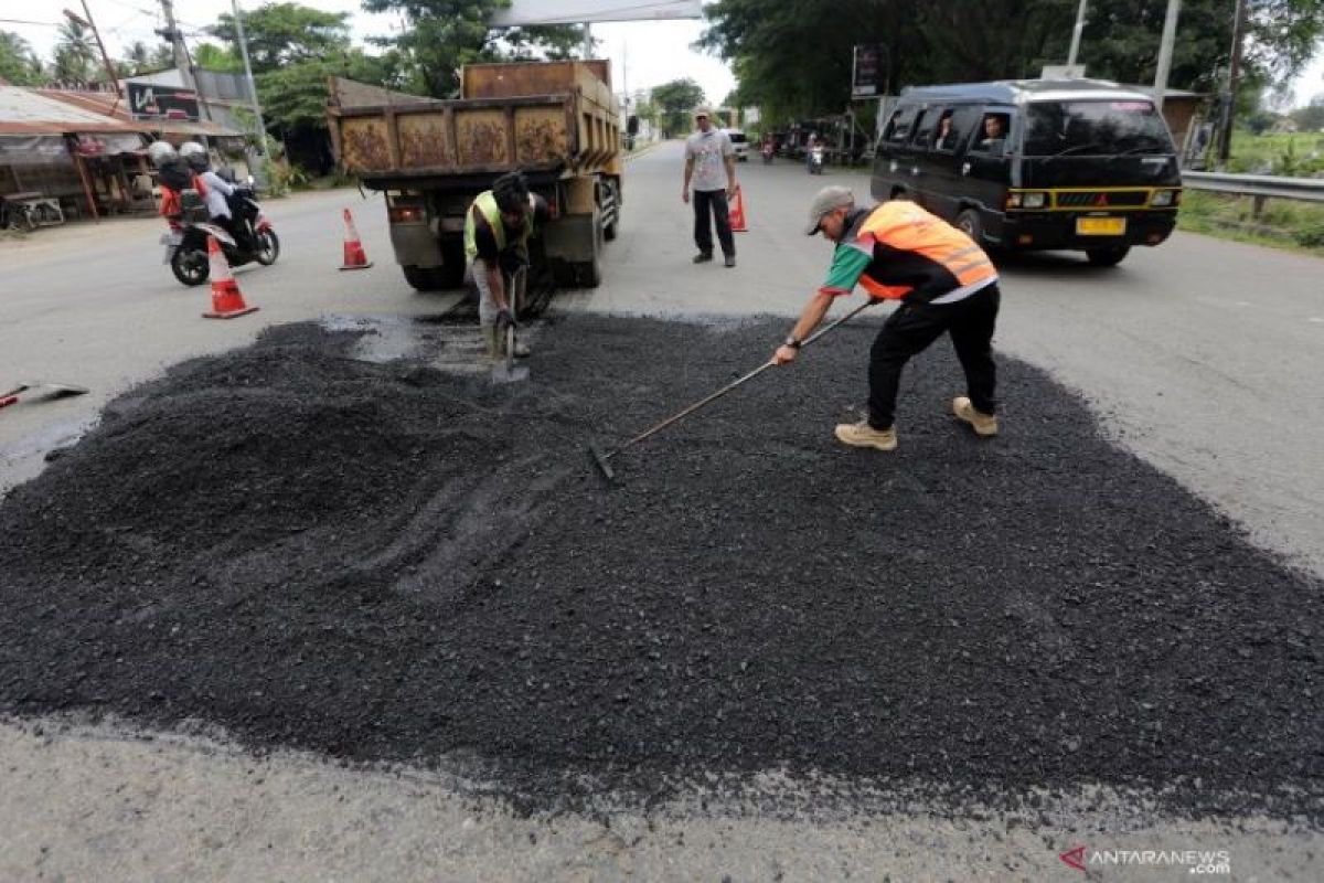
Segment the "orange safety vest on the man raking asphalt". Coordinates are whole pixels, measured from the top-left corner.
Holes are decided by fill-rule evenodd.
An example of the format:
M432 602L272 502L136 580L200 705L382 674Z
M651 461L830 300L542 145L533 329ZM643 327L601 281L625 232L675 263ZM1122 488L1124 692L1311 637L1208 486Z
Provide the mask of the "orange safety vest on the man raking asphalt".
M899 301L919 290L929 303L952 302L997 279L970 237L907 200L875 207L851 236L874 246L859 285L875 298Z

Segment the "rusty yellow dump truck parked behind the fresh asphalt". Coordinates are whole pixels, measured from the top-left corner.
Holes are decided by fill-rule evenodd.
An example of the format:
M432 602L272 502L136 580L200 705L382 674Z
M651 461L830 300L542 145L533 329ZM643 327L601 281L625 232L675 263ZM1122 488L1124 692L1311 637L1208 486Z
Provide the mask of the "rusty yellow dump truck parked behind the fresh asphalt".
M465 214L519 171L547 200L535 278L596 287L602 242L621 218L621 116L606 61L466 65L458 99L331 78L327 122L346 173L385 193L391 244L420 291L458 287Z

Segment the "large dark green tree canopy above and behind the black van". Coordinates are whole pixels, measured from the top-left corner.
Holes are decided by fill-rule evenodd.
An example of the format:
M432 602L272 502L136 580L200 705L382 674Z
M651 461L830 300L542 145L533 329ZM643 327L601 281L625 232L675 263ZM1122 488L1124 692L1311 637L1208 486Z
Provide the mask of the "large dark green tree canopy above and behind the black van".
M851 49L883 44L892 94L904 86L1037 77L1067 57L1076 0L719 0L699 44L733 64L765 119L839 113ZM1166 0L1091 0L1079 61L1091 77L1152 83ZM1233 0L1185 0L1169 85L1217 91ZM1324 36L1324 0L1249 0L1243 101L1290 79ZM1246 109L1250 110L1249 107Z

